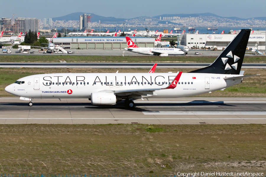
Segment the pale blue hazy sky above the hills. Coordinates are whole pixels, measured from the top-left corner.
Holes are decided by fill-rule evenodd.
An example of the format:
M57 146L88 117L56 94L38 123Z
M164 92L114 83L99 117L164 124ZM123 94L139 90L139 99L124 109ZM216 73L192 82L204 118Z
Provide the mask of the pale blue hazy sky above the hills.
M4 4L3 4L4 3ZM105 17L153 17L162 14L210 12L222 17L266 17L265 0L111 0L111 1L1 1L0 17L53 18L74 12L94 13Z

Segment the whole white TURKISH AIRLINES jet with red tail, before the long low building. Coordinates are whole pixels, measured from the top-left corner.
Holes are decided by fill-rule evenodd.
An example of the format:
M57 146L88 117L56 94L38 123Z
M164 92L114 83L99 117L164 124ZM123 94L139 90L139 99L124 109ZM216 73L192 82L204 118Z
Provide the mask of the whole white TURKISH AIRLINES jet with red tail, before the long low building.
M162 57L167 57L168 55L182 55L183 51L177 48L158 48L158 47L137 47L130 37L126 36L127 47L124 50L140 53L144 55L157 55Z

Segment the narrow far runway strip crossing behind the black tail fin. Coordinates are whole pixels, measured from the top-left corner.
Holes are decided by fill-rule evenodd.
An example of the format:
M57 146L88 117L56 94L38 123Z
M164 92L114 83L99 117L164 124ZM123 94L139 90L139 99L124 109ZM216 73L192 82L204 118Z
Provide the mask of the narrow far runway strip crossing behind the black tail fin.
M151 68L154 63L0 63L0 68ZM158 63L157 68L202 68L211 63ZM243 63L241 68L266 68L266 63Z

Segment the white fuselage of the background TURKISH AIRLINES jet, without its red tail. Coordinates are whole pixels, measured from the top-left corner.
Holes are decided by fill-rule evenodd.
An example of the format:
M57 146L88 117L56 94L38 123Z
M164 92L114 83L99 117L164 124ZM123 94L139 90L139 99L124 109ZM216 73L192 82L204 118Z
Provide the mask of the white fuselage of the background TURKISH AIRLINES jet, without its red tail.
M177 48L158 48L158 47L134 47L134 48L124 48L134 53L140 53L144 55L158 55L158 53L166 53L168 55L182 55L183 51Z

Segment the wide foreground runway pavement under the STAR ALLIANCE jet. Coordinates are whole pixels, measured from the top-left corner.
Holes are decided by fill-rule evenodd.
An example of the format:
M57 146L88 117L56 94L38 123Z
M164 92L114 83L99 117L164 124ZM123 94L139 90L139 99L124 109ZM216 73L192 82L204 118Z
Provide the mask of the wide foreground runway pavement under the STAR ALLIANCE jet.
M93 106L88 99L0 98L0 124L265 124L266 98L186 97Z

